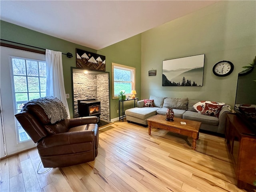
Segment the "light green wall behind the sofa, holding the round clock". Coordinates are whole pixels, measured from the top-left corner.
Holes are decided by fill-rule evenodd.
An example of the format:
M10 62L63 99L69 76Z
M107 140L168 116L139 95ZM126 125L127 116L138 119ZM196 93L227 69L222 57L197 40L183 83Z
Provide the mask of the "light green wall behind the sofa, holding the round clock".
M150 95L188 97L235 103L238 73L256 55L256 1L220 1L142 33L141 98ZM162 61L205 54L202 87L162 86ZM219 61L234 64L234 71L217 77ZM156 76L148 70L156 69Z

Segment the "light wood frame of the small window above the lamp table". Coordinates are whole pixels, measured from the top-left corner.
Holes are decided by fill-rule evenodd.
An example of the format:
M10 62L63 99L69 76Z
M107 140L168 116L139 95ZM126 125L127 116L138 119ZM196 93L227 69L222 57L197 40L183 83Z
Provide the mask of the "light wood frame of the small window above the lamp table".
M118 95L114 94L114 68L131 71L131 73L132 73L132 90L135 90L135 70L136 70L136 68L126 66L126 65L117 64L117 63L112 63L112 99L118 99ZM126 93L125 95L130 95L130 93Z

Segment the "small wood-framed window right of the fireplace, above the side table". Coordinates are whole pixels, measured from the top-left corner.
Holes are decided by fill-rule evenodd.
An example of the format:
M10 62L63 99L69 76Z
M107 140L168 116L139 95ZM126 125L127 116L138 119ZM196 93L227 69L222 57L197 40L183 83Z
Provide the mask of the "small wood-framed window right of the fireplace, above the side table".
M112 63L112 99L122 90L127 95L135 90L135 68Z

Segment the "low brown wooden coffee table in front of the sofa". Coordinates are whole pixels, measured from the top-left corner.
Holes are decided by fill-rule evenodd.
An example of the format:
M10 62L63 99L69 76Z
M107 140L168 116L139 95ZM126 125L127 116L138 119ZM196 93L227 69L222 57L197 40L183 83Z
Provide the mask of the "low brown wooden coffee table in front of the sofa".
M180 122L186 122L186 125L183 125ZM175 117L174 121L166 121L165 115L156 115L148 119L148 134L151 134L151 127L155 127L181 135L189 136L193 138L192 148L196 150L196 140L198 140L199 137L198 131L200 126L201 122Z

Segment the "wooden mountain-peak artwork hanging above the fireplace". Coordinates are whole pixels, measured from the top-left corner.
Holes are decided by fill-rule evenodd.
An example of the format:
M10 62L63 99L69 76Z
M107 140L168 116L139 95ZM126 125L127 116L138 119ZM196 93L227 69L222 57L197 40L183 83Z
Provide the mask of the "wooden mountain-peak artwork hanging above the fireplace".
M106 71L106 57L76 49L76 67Z

